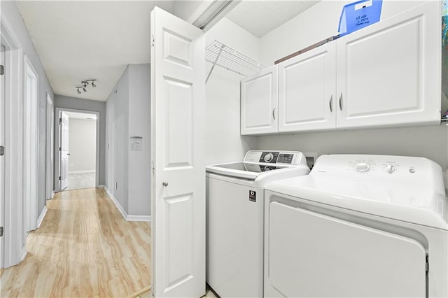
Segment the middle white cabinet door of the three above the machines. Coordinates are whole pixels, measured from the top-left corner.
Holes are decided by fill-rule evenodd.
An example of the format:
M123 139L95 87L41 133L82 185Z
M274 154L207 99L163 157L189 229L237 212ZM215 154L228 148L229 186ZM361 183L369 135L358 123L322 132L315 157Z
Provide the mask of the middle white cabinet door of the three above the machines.
M279 64L279 132L336 125L336 43Z

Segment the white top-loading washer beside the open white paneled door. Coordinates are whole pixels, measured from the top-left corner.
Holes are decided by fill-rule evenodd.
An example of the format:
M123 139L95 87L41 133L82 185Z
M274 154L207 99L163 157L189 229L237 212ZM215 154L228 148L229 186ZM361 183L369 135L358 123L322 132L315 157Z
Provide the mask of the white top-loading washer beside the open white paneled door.
M288 151L207 166L207 283L220 297L262 297L264 187L307 173L304 155Z

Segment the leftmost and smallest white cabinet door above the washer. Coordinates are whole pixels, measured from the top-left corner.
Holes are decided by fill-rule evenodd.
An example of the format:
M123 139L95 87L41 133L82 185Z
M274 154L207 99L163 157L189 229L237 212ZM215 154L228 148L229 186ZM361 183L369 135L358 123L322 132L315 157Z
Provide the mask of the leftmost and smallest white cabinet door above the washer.
M277 132L278 67L241 81L241 134Z

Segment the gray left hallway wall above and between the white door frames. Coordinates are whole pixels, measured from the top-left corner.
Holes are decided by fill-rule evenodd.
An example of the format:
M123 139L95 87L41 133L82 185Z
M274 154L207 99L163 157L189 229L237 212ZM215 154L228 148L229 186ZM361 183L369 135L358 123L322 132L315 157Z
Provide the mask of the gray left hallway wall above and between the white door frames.
M22 45L23 55L27 55L38 74L38 204L37 215L40 215L45 206L45 111L46 93L54 99L53 91L48 81L45 70L41 64L34 44L29 37L27 27L22 20L15 1L1 1L1 14L6 17Z

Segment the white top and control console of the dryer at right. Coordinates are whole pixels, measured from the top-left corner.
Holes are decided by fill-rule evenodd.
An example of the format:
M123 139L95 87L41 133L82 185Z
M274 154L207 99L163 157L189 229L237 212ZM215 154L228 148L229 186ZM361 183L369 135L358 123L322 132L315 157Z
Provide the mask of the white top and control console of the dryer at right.
M448 230L442 169L426 158L323 155L308 176L269 183L266 190Z

